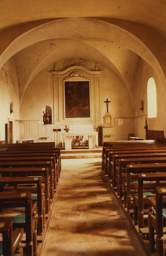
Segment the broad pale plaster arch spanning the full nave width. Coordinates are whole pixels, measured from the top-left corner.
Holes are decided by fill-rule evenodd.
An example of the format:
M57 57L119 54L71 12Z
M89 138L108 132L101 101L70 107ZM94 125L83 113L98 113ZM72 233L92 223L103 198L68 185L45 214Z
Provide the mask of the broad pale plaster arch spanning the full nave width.
M89 28L88 30L87 27ZM95 38L96 41L100 41L100 38L105 38L109 44L116 42L119 44L119 47L123 46L124 48L129 48L141 56L154 68L158 76L162 80L165 80L158 61L137 37L115 25L89 18L68 18L56 20L54 22L48 22L44 25L38 26L24 33L15 39L1 55L1 65L5 62L5 59L7 60L9 57L11 57L11 54L13 55L19 50L35 44L36 42L51 38L66 38L77 41L87 38Z

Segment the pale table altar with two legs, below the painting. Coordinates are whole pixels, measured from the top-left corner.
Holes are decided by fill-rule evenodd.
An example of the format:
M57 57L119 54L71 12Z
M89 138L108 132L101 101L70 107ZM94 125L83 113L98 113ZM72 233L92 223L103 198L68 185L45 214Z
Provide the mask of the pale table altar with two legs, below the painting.
M88 136L88 148L94 149L98 146L98 132L63 132L63 139L65 141L65 150L71 150L72 136Z

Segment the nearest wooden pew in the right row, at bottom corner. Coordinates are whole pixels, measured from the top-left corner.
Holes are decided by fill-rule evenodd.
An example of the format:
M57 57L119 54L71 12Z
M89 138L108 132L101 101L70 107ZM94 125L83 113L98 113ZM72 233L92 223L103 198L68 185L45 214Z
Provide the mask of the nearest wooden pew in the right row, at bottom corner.
M150 207L148 214L149 222L149 246L153 252L155 249L155 231L156 231L156 251L157 256L164 256L163 227L166 226L166 217L163 217L163 207L166 207L166 187L156 189L156 197L147 199ZM154 214L155 209L155 214Z

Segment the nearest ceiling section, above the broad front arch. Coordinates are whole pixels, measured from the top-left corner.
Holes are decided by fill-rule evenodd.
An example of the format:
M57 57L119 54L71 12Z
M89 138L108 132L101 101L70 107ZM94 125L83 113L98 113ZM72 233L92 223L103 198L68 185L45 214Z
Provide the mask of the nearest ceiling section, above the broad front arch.
M139 23L166 37L165 0L5 0L0 30L44 19L92 17Z

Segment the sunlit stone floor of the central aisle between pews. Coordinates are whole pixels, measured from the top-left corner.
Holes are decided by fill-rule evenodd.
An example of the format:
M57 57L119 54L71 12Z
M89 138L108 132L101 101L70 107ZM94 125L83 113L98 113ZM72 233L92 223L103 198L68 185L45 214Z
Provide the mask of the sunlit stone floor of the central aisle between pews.
M99 158L62 159L43 256L145 256L101 174Z

